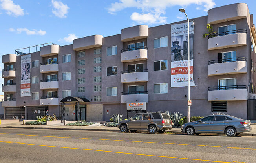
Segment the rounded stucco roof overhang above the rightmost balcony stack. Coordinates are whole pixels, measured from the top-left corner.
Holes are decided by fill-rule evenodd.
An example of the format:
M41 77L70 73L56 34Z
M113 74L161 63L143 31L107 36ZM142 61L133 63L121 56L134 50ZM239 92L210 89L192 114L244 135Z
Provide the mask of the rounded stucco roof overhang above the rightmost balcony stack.
M248 7L245 3L236 3L208 10L207 24L217 24L231 20L247 18Z

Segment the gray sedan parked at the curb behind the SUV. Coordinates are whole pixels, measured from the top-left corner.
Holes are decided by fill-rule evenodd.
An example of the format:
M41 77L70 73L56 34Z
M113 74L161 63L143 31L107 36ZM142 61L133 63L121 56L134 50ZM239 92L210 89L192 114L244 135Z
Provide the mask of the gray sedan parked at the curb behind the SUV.
M211 115L198 121L183 124L181 132L185 132L188 135L225 133L227 136L238 136L240 133L252 130L250 123L250 120L243 120L234 116Z

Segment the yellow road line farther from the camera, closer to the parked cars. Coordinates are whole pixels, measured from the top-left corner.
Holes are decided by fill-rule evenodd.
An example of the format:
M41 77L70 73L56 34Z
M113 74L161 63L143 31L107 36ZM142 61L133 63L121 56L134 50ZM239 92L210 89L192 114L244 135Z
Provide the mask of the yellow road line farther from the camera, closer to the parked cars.
M255 148L225 147L225 146L214 146L214 145L161 143L161 142L148 142L148 141L130 141L130 140L94 139L94 138L73 138L73 137L62 137L62 136L43 136L43 135L26 135L26 134L10 134L10 133L0 133L0 134L20 135L20 136L38 136L38 137L47 137L47 138L69 138L69 139L87 139L87 140L105 140L105 141L124 141L124 142L134 142L134 143L154 143L154 144L170 144L170 145L189 145L189 146L199 146L199 147L221 147L221 148L229 148L229 149L248 149L248 150L256 150Z

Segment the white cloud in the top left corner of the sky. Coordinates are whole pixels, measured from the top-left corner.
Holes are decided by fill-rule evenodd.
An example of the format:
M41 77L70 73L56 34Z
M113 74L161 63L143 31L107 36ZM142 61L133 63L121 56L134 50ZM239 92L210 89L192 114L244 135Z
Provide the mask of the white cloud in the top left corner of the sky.
M20 5L15 5L12 0L0 0L1 9L6 10L6 13L12 16L22 16L24 15L23 9Z

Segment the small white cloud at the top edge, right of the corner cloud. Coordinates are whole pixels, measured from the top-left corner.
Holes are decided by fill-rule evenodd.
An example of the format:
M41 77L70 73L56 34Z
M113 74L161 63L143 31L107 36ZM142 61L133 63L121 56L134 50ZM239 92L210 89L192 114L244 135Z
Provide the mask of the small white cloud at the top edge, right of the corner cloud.
M59 18L66 18L66 14L68 14L68 5L64 5L61 1L57 0L51 0L51 3L53 5L52 12L55 14L55 16Z

